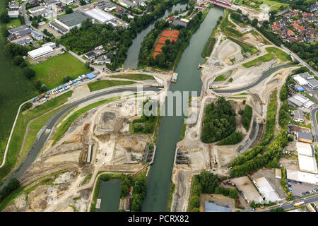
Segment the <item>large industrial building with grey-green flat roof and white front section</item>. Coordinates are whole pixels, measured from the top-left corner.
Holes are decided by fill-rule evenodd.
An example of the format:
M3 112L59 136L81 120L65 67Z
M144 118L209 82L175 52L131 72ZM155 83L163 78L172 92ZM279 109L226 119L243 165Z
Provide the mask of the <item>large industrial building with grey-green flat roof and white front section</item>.
M90 19L82 11L76 11L74 13L62 16L49 23L49 27L57 30L57 32L65 35L72 28L81 28L83 21ZM92 20L94 23L95 20Z

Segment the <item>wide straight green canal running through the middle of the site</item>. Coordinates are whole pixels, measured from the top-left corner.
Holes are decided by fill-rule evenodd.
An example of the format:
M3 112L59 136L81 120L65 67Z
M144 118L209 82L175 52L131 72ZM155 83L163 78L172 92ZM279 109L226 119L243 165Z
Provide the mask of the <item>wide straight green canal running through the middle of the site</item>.
M176 69L177 83L170 85L172 92L196 91L197 95L200 95L202 83L198 65L204 63L201 52L220 16L223 16L222 8L211 8L204 22L192 35ZM181 135L183 122L184 116L167 116L161 121L155 160L147 177L147 194L143 201L143 211L167 211L175 148Z

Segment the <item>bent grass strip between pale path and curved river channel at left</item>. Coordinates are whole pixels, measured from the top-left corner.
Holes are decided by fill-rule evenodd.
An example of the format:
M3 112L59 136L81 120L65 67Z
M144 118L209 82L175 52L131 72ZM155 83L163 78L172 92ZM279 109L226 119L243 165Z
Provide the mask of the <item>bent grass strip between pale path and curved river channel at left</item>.
M60 95L59 97L54 98L53 100L50 100L49 102L46 102L43 105L40 105L39 107L30 109L27 112L20 112L18 120L16 121L16 127L13 131L11 143L8 148L8 154L6 155L6 164L1 168L0 171L0 181L1 179L4 179L4 177L11 171L12 167L16 165L28 121L39 117L40 115L48 112L51 109L54 109L55 107L58 107L59 105L64 104L71 94L72 92L69 91L63 95ZM40 122L40 124L42 123L43 122ZM21 155L21 158L23 157L24 156Z

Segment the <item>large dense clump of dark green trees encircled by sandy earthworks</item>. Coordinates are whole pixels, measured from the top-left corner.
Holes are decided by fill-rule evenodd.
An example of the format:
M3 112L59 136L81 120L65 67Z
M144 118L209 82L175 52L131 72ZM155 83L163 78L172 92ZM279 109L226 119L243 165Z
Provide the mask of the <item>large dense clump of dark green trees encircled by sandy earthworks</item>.
M235 111L225 97L219 97L216 103L204 110L201 141L213 143L229 136L235 131Z

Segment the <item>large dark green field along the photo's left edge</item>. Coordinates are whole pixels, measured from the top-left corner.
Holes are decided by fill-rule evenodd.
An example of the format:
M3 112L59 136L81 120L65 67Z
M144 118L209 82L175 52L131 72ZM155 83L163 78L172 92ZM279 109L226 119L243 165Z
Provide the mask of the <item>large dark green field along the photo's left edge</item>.
M0 13L6 11L5 1L0 1ZM6 25L0 23L0 28L6 28ZM4 157L6 142L10 134L13 121L18 112L18 107L25 100L37 95L33 84L23 75L23 70L15 66L12 59L4 52L5 38L0 35L0 161ZM8 153L9 155L9 153ZM0 169L2 175L4 169Z

